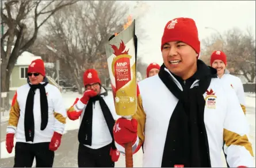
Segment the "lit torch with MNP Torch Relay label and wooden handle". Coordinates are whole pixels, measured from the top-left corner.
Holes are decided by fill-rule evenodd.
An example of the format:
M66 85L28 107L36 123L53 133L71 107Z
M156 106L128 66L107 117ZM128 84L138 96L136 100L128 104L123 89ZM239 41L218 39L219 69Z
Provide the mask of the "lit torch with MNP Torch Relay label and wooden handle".
M131 16L124 30L109 38L105 50L116 114L131 120L137 107L137 37ZM125 144L125 165L133 167L132 142Z

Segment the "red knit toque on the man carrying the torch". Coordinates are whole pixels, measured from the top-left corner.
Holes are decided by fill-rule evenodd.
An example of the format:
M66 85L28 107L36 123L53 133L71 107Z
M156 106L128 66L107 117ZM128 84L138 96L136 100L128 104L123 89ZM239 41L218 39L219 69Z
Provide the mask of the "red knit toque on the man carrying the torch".
M196 23L191 18L175 18L167 22L162 37L163 45L171 41L182 41L190 45L197 54L200 53L200 41Z

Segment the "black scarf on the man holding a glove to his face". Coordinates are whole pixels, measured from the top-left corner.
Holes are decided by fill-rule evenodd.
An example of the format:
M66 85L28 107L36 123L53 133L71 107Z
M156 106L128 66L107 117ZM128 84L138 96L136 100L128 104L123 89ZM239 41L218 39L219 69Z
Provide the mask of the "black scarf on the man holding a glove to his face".
M106 89L105 89L106 90ZM108 108L108 105L105 103L105 100L101 96L108 96L108 92L101 93L100 95L91 97L86 105L83 119L78 131L78 141L82 144L87 144L91 146L91 137L92 137L92 128L93 128L93 104L95 101L99 100L102 113L108 125L109 132L112 137L112 149L116 149L114 145L114 136L113 136L113 127L114 119Z

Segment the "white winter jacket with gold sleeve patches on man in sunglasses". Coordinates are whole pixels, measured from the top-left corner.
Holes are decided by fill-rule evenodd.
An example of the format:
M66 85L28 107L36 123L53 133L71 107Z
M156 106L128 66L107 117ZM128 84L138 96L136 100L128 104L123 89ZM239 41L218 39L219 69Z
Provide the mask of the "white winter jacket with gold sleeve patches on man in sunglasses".
M43 83L42 83L43 84ZM29 84L19 87L13 97L12 107L10 109L10 118L6 133L16 134L16 142L26 142L24 130L24 116L26 107L26 97L28 96ZM45 92L48 100L48 123L47 127L41 131L41 108L40 108L40 90L36 89L34 97L33 114L35 121L35 136L33 142L40 143L51 142L54 131L63 134L66 124L66 110L62 95L57 87L51 84L45 86Z

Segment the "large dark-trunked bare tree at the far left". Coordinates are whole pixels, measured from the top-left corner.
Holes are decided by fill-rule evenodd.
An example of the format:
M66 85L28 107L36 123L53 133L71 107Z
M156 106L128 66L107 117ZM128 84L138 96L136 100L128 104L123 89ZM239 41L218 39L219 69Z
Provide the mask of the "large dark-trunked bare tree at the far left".
M1 37L1 91L9 91L10 75L22 52L36 41L41 26L65 6L77 1L5 1L2 23L7 26ZM33 30L29 30L33 23Z

